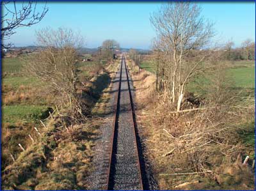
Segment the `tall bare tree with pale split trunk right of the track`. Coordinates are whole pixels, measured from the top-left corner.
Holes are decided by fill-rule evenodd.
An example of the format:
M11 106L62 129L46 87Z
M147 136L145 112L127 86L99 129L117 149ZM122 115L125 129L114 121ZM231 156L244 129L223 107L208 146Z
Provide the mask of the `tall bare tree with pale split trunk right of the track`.
M186 84L202 69L206 57L195 52L200 52L213 36L212 24L200 13L196 4L172 2L164 4L150 17L157 33L154 48L163 56L157 76L177 111Z

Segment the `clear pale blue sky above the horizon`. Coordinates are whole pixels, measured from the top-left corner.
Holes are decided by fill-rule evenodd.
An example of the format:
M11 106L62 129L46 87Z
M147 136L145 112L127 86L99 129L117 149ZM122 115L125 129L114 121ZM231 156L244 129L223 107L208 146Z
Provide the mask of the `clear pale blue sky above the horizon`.
M205 19L215 22L213 42L255 40L255 3L199 3ZM42 6L42 4L40 5ZM48 3L49 11L35 26L21 27L10 38L16 46L35 45L35 30L43 27L70 27L80 31L85 47L99 47L115 39L121 47L150 49L156 35L150 14L161 3Z

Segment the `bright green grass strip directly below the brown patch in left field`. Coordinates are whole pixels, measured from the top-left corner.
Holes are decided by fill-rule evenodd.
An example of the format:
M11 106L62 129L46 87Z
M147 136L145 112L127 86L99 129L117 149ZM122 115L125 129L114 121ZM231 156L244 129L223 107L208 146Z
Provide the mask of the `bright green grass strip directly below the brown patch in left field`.
M2 107L3 122L36 122L45 118L47 106L42 105L6 105Z

